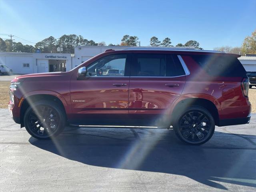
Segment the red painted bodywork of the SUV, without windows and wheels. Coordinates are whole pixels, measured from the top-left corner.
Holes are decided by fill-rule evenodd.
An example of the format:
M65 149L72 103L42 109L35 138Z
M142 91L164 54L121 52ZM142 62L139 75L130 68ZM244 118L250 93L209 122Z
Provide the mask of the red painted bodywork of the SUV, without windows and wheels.
M96 60L111 54L160 53L179 54L186 63L189 75L161 77L90 77L77 80L78 68L89 66ZM14 91L14 103L10 109L19 118L24 100L30 96L46 94L57 97L63 104L68 119L85 118L92 114L118 115L172 115L175 106L182 100L202 98L216 106L222 119L245 118L250 115L248 97L243 95L243 77L213 77L208 75L189 54L190 51L123 50L99 54L70 72L30 74L12 82L22 82ZM209 54L200 52L200 54ZM224 55L223 53L211 53ZM239 57L239 55L225 54ZM113 86L124 83L126 86ZM178 86L166 86L178 84ZM21 101L21 99L24 100ZM76 101L84 102L76 102ZM18 106L20 102L20 106ZM129 116L130 117L130 116ZM22 121L22 120L21 120Z

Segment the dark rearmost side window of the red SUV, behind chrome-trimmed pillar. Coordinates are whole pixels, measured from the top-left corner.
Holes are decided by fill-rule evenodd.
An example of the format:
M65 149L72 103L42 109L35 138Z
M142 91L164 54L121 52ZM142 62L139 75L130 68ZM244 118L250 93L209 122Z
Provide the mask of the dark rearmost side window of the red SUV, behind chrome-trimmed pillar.
M210 76L246 76L244 67L234 56L191 55L191 57Z

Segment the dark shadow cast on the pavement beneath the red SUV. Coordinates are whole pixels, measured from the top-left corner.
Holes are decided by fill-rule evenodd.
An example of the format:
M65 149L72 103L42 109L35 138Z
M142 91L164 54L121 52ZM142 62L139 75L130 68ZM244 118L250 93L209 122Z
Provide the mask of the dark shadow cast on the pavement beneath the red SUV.
M235 146L228 144L239 139L242 142ZM31 137L29 142L92 166L176 174L227 190L219 182L256 187L255 139L215 132L207 144L188 146L173 130L80 128L66 130L54 140Z

